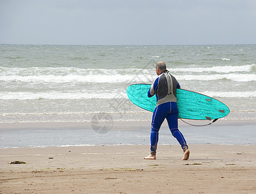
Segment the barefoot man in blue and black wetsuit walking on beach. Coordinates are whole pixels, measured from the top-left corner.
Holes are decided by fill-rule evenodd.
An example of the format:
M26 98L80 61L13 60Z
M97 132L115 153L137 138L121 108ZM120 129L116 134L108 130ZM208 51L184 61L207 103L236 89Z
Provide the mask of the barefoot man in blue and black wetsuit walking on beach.
M178 107L176 98L176 89L180 88L178 81L166 69L164 62L159 61L156 64L157 78L152 83L148 91L148 97L156 94L157 105L152 116L151 123L151 153L144 159L156 160L156 149L159 136L159 129L165 118L167 119L170 132L178 140L183 149L184 156L182 160L189 159L189 147L181 132L178 129Z

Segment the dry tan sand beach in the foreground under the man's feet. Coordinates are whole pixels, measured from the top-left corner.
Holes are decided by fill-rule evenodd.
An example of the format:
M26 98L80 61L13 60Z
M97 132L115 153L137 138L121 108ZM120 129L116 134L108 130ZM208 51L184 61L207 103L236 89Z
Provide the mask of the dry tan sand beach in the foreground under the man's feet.
M256 146L191 144L0 149L0 193L256 193ZM10 164L14 161L26 164Z

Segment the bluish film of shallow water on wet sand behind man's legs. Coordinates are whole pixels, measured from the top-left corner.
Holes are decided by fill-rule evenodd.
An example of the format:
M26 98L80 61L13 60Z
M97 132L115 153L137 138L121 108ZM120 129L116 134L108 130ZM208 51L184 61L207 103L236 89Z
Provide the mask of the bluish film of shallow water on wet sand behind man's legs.
M150 122L149 122L150 124ZM180 126L187 144L256 145L254 124ZM116 127L115 127L116 128ZM112 129L99 134L85 127L34 127L0 129L0 148L47 146L149 145L150 125L130 126L132 129ZM167 125L159 131L159 145L178 145ZM148 146L148 150L150 146ZM1 149L0 149L1 155Z

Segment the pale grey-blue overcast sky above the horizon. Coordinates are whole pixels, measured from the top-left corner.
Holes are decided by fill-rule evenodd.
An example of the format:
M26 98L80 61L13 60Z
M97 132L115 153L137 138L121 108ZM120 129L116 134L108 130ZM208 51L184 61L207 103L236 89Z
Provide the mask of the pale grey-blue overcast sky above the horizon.
M256 0L0 0L0 44L256 44Z

